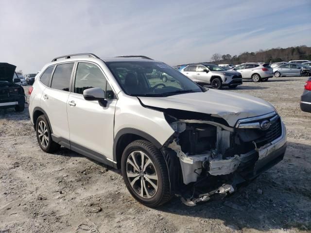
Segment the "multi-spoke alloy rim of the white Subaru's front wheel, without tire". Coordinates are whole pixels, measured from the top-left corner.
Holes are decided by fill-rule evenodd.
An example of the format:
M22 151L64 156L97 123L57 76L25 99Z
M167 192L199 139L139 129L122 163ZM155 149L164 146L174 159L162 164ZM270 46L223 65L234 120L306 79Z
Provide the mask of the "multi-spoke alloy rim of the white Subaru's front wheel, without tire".
M133 151L126 160L126 176L133 190L142 198L150 199L158 189L155 165L147 154Z

